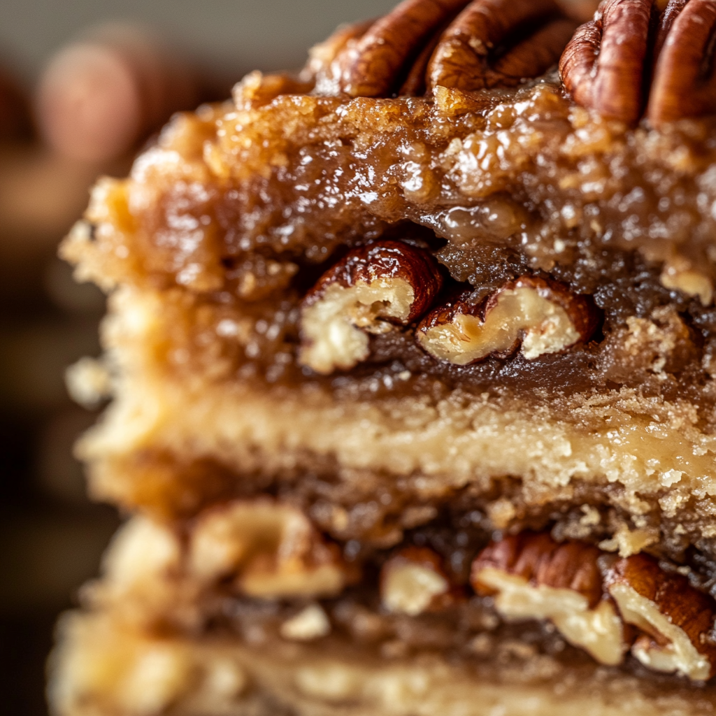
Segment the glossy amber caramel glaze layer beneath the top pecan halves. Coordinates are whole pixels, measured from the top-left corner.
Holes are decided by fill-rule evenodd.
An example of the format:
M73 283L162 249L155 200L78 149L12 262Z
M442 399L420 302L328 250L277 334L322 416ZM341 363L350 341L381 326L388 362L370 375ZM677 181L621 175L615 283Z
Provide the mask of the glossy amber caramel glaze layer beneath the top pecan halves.
M98 240L130 250L105 258L107 276L205 291L224 286L222 261L322 263L408 220L535 269L599 246L716 277L716 120L628 130L546 80L428 99L299 89L248 78L236 106L180 115L130 180L97 195Z

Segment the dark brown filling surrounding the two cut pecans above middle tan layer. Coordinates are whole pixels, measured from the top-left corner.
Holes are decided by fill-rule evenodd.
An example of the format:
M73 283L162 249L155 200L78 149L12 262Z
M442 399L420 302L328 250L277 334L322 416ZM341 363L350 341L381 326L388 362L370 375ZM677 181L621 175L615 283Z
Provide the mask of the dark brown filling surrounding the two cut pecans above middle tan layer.
M467 287L489 296L500 284L525 276L519 257L485 251L453 263L448 247L437 256L463 281L446 279L434 301ZM510 259L508 261L508 258ZM686 399L703 409L714 400L711 388L712 334L716 317L699 301L679 297L659 284L659 274L633 254L599 252L604 266L619 266L621 275L594 271L594 261L572 269L537 272L537 278L558 281L574 294L592 296L601 320L589 340L558 352L525 357L521 352L488 356L475 364L456 365L425 352L415 340L417 320L370 335L369 354L349 371L336 368L321 376L301 365L301 301L314 271L299 271L295 289L251 304L229 294L191 296L170 290L163 294L168 341L165 364L179 375L205 373L216 379L260 380L268 385L296 386L314 382L341 399L401 395L447 395L456 387L475 392L502 391L524 400L538 400L536 391L604 392L638 387L642 395L665 400ZM457 261L455 259L455 261ZM420 319L422 316L418 316Z

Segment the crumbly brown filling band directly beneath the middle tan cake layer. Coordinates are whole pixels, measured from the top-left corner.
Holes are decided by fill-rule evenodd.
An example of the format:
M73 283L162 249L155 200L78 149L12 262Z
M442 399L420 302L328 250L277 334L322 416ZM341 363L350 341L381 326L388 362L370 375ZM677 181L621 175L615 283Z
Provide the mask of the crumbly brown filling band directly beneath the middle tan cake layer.
M306 462L312 469L266 475L235 473L214 460L181 465L170 455L147 452L116 465L120 490L110 489L112 498L127 507L186 520L216 503L274 495L309 515L332 538L351 543L363 558L435 520L448 530L479 528L485 535L551 528L558 539L598 543L618 534L614 549L649 546L662 558L690 566L702 574L705 589L716 590L716 537L709 529L713 506L687 491L634 495L606 480L573 479L559 487L509 477L475 479L456 488L421 475L339 470L334 461L319 458L306 457Z

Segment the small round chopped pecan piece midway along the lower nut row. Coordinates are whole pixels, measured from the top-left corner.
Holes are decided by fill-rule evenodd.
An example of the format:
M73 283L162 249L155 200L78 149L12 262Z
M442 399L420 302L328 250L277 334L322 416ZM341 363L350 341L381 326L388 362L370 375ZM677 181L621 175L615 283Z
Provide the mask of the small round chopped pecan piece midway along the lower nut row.
M388 611L417 616L444 606L450 590L440 557L424 547L403 549L380 573L381 601Z

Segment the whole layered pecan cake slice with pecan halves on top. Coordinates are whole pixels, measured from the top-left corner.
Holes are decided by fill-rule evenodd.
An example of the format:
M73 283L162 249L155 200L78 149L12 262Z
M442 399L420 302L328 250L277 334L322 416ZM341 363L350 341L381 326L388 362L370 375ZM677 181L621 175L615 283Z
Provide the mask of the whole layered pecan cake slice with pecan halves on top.
M407 0L100 181L59 715L715 712L715 32Z

